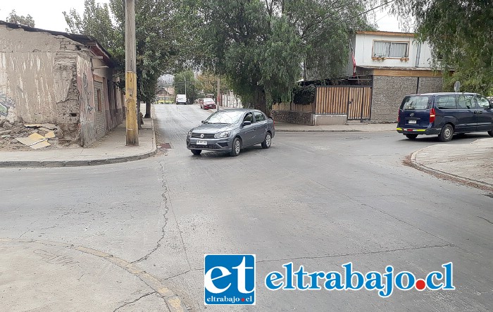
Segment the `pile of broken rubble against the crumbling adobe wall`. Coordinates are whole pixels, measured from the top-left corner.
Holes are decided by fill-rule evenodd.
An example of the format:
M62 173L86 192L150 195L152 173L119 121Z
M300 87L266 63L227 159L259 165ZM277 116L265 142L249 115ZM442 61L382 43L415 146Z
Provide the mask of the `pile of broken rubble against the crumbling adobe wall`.
M25 124L0 120L0 149L40 149L58 145L60 127L50 123Z

